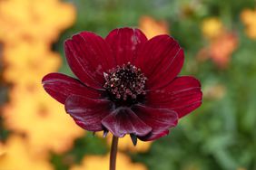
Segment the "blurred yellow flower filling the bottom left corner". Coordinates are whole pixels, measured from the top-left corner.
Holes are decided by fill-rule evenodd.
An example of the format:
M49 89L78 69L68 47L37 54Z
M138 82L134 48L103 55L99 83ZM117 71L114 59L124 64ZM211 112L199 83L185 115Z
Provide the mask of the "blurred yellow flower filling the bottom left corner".
M1 155L1 150L5 153ZM9 137L6 144L0 145L1 170L53 170L47 156L30 153L30 146L22 137Z

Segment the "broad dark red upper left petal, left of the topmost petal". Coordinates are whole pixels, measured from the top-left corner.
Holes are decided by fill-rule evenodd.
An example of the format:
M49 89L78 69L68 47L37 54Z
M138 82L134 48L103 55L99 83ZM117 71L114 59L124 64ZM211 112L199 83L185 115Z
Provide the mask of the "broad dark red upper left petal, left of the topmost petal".
M103 72L115 66L105 40L89 32L76 34L64 43L66 59L79 80L94 89L103 88Z

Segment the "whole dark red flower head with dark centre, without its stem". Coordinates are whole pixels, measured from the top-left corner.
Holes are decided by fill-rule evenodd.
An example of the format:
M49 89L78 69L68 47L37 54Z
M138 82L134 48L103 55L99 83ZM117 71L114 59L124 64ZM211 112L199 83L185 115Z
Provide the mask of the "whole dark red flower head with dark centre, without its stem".
M78 79L50 73L44 90L86 130L154 140L202 104L199 80L177 76L184 54L169 35L147 40L138 29L120 28L103 39L83 32L64 50Z

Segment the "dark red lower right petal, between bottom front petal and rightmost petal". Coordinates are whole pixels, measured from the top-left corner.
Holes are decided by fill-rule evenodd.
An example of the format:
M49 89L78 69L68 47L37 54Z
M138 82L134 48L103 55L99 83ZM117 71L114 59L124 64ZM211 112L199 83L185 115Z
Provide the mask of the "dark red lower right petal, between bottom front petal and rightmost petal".
M178 123L178 115L171 109L156 109L140 104L133 106L133 111L147 125L152 127L152 134L157 135Z

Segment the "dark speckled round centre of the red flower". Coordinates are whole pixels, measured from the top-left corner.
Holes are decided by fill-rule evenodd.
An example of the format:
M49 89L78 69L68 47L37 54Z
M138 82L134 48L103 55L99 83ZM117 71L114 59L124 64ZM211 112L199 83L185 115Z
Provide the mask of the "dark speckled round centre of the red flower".
M135 103L145 95L145 81L147 78L141 69L130 62L117 66L108 73L104 72L106 80L104 88L108 91L113 101Z

